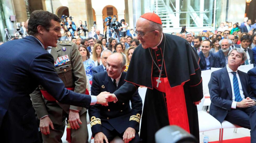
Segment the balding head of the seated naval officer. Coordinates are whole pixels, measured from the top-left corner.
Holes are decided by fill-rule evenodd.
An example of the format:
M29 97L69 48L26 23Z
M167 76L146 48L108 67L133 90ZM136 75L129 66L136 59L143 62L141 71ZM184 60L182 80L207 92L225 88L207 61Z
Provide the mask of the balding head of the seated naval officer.
M113 79L117 79L125 69L125 66L122 67L122 55L120 53L117 54L112 54L107 59L107 73L108 76Z

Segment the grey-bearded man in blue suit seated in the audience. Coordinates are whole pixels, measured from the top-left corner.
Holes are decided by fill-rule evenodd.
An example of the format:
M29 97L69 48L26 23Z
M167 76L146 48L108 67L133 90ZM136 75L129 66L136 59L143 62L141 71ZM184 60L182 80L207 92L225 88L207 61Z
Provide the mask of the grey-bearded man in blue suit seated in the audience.
M228 53L229 53L229 46L232 43L229 39L222 39L219 41L221 46L221 50L215 53L217 60L219 62L220 68L225 67L228 64Z

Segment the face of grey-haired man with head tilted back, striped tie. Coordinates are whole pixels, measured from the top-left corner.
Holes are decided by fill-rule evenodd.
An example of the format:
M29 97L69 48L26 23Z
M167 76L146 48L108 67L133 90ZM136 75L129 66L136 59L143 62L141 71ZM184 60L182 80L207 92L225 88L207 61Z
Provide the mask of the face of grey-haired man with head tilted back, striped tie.
M228 65L236 66L237 68L243 64L243 54L238 53L236 50L233 50L228 57Z

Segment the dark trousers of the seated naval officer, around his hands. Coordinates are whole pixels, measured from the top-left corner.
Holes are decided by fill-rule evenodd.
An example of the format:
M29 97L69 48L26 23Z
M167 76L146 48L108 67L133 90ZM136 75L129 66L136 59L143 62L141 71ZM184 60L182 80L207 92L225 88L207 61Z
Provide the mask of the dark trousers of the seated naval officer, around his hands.
M102 128L102 133L104 135L106 135L106 137L108 139L108 142L112 141L115 138L115 136L119 136L121 139L123 139L124 133L120 134L115 129L113 131L110 131L109 129L107 129L107 128L103 127L103 126L101 126L101 128ZM103 141L104 141L104 143L106 143L105 140L103 140ZM138 143L138 142L140 142L140 138L139 138L138 132L136 132L135 133L135 138L132 139L131 141L129 141L129 143Z

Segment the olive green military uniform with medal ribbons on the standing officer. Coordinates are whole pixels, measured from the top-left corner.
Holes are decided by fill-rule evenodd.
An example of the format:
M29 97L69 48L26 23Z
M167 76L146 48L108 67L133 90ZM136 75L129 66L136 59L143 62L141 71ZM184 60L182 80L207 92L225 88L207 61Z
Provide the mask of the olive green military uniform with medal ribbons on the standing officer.
M51 48L51 55L54 58L54 66L60 79L66 88L74 88L74 92L85 94L86 76L82 56L77 45L70 41L60 41L57 47ZM59 63L65 59L67 62ZM69 109L79 110L82 125L80 128L71 129L72 142L88 142L88 129L86 123L86 108L61 104L56 101L48 101L42 96L40 90L45 90L39 86L30 96L39 119L49 115L53 122L54 130L50 128L50 134L42 134L44 143L61 142L61 137L65 130L65 120L68 118ZM58 89L56 89L58 90Z

